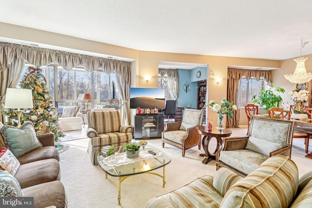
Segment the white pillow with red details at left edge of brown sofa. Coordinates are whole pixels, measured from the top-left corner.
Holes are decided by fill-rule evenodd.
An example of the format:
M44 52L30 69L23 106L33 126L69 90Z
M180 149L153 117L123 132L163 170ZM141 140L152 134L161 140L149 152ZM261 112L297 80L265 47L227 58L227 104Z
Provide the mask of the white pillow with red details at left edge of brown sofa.
M20 161L16 159L12 151L2 147L0 150L0 170L6 170L13 176L20 167Z

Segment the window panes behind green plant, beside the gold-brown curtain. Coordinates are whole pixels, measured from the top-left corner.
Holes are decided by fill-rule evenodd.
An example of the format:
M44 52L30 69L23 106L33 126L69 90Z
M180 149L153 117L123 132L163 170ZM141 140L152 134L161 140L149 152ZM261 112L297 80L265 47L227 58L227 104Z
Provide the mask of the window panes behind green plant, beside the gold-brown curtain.
M240 85L240 107L243 108L247 104L253 104L253 96L259 95L262 90L268 87L264 79L257 81L255 78L251 78L247 81L243 77Z

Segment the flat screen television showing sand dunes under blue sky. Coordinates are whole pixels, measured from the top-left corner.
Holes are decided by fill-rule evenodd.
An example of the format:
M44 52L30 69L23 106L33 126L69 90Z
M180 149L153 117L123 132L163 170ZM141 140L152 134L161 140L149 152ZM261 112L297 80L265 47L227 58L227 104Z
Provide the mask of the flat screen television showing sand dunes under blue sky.
M130 88L131 109L164 109L165 89Z

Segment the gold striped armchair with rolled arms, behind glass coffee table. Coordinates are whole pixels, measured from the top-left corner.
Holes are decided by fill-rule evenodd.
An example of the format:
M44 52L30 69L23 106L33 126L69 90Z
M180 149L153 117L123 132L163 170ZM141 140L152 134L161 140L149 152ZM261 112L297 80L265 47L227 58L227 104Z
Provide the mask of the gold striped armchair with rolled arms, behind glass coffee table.
M98 165L98 152L105 146L122 146L131 143L132 126L121 125L119 111L94 111L90 114L87 136L91 163Z

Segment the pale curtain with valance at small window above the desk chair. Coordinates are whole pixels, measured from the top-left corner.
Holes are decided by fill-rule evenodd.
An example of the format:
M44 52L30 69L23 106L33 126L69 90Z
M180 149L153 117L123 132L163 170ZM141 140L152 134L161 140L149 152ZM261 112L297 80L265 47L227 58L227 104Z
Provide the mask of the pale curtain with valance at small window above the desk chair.
M179 70L178 69L158 69L158 74L163 77L168 76L170 94L176 100L179 97Z

